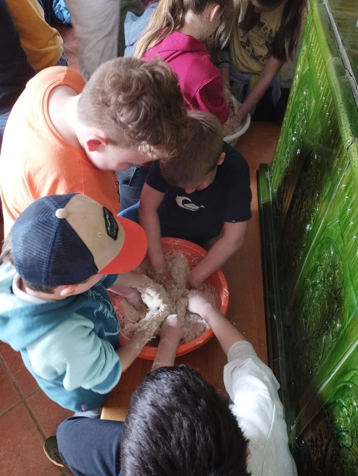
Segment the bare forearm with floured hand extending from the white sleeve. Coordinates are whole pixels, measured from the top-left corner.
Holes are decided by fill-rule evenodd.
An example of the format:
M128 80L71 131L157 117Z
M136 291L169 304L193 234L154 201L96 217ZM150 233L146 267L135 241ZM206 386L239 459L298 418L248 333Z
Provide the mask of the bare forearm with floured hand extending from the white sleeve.
M188 292L188 310L199 314L208 323L225 355L228 355L230 347L235 342L246 340L241 332L199 291Z

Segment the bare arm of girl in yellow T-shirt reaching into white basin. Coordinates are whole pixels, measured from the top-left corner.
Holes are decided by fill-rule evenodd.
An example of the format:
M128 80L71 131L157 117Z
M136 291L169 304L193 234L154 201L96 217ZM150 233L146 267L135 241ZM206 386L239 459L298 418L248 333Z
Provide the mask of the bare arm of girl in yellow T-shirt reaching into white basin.
M277 75L278 71L282 68L284 63L285 61L278 60L273 56L268 59L268 62L266 63L264 69L261 71L257 83L251 89L248 97L245 99L241 108L238 111L237 118L239 119L239 121L244 120L250 110L256 106L256 104L267 91L270 82Z

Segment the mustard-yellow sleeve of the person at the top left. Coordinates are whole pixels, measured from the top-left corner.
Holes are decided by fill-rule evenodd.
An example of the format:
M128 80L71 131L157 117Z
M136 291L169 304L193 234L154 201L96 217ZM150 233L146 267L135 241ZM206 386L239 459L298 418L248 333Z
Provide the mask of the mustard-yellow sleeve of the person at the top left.
M63 53L63 41L60 33L46 23L39 2L6 0L6 3L30 65L37 71L55 66Z

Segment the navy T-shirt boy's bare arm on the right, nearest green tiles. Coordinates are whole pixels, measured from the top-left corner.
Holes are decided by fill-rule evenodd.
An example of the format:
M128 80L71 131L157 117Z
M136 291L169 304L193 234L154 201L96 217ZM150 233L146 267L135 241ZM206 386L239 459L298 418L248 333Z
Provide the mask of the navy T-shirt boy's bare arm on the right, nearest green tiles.
M199 288L206 278L221 268L227 259L241 247L247 224L247 221L224 222L219 239L209 249L208 254L191 270L188 278L191 288Z

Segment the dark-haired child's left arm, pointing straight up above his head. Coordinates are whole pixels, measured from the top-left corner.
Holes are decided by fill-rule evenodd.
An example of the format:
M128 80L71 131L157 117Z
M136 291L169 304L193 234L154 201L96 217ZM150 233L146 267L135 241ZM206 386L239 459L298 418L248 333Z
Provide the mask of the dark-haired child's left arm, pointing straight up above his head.
M171 314L164 321L160 329L160 341L155 356L152 370L159 367L172 367L179 346L179 341L183 337L183 328L177 314Z

